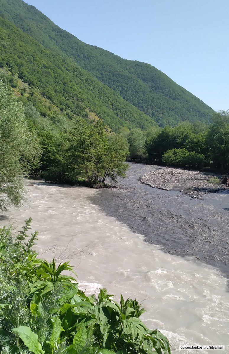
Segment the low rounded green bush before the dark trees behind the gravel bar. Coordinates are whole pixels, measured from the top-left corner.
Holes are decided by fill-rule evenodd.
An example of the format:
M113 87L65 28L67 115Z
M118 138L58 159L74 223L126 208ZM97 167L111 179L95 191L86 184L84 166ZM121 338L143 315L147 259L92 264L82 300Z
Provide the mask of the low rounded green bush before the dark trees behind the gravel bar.
M194 151L187 149L171 149L162 156L162 162L166 165L199 167L204 166L205 158Z

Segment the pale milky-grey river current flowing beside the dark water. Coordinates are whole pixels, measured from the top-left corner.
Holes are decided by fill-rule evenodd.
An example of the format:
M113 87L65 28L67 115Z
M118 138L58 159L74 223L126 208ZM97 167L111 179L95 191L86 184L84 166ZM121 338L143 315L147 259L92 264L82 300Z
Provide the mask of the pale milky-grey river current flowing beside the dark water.
M173 354L229 353L228 284L219 271L144 242L142 235L91 204L99 190L32 183L27 203L12 210L9 219L18 228L33 218L42 257L69 258L83 290L106 287L109 293L142 301L147 310L143 320L169 338ZM194 343L223 344L225 350L179 350Z

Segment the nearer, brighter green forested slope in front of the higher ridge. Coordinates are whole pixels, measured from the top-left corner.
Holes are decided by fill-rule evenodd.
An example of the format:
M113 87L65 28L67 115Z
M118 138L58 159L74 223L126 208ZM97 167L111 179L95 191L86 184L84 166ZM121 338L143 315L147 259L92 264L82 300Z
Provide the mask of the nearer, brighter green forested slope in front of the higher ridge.
M106 125L145 129L152 118L126 102L115 91L79 67L63 53L51 51L10 21L0 17L0 67L37 88L62 111L78 116L94 112ZM30 101L33 101L31 91Z

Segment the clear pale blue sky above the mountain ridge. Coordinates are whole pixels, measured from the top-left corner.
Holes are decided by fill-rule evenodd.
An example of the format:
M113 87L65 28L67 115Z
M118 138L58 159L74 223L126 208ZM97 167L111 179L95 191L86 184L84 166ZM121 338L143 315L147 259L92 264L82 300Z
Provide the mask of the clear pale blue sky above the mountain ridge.
M229 0L26 0L80 40L229 109Z

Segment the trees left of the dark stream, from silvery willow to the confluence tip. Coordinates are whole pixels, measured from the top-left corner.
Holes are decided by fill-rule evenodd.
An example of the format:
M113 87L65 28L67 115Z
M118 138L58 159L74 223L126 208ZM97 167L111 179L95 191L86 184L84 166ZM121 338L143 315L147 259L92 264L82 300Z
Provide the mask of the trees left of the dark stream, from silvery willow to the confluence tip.
M106 132L101 120L76 117L55 123L31 103L23 105L0 80L0 207L23 201L20 175L39 173L46 181L104 186L107 177L125 177L127 140Z

